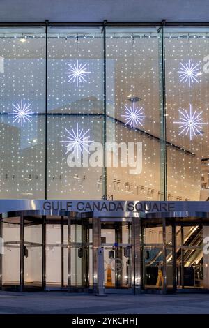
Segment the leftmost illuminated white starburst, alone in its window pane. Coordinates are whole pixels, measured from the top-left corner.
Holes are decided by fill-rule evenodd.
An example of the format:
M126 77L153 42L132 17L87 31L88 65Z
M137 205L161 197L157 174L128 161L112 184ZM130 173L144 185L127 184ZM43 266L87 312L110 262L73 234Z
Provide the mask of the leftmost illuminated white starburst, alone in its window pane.
M31 122L31 115L34 114L31 112L31 103L26 104L23 100L20 100L20 103L17 103L17 105L13 104L13 107L13 113L8 113L9 115L13 115L13 123L17 121L17 123L23 126L26 121Z

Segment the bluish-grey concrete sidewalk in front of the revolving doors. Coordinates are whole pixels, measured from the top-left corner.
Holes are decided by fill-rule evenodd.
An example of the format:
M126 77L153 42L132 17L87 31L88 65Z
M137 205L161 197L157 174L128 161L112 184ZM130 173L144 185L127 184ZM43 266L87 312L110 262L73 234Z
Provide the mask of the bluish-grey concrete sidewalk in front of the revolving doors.
M209 313L208 294L116 295L0 292L0 314Z

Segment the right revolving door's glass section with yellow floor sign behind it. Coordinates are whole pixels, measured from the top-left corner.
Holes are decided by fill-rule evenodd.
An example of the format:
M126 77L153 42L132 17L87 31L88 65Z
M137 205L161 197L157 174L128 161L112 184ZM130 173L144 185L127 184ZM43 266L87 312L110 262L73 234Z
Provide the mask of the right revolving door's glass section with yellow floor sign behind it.
M174 228L169 220L142 221L143 288L175 289Z

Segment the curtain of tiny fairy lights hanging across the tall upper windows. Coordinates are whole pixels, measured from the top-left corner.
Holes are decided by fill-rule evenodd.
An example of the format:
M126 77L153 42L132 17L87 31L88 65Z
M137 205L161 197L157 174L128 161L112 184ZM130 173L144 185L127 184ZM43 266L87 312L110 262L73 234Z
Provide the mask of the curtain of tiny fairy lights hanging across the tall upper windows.
M207 179L201 159L208 156L208 42L208 35L165 38L169 200L198 200ZM0 35L0 43L0 194L44 197L45 37ZM160 36L107 33L107 117L102 36L56 35L47 43L47 196L102 197L103 168L68 165L68 154L102 144L105 120L107 142L143 145L141 174L107 167L107 193L162 199Z

